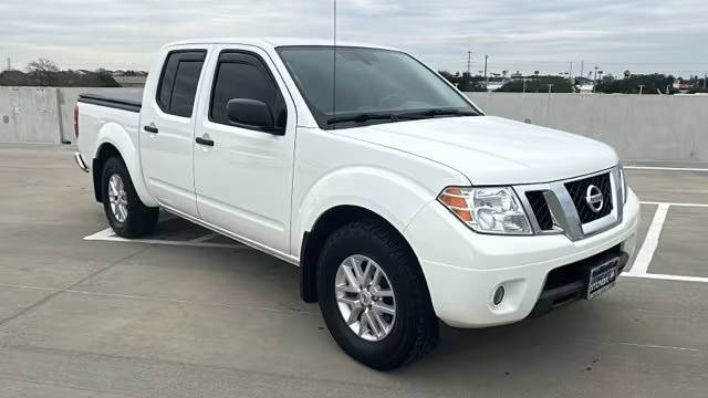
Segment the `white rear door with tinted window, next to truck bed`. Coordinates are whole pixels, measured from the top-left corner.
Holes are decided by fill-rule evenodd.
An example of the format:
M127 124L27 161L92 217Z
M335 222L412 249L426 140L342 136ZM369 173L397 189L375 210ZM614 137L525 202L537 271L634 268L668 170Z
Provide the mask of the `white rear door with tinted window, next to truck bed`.
M145 87L140 109L140 161L147 188L160 205L197 216L192 150L196 98L207 48L175 49L163 57L158 80ZM156 93L149 96L147 93Z

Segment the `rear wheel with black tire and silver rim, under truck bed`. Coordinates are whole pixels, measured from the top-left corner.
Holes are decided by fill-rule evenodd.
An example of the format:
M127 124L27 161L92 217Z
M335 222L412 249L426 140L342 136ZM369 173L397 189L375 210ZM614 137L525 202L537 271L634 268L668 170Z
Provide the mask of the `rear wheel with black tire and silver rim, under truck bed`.
M108 158L103 165L101 192L106 218L118 237L138 238L155 230L159 208L147 207L140 201L119 157Z

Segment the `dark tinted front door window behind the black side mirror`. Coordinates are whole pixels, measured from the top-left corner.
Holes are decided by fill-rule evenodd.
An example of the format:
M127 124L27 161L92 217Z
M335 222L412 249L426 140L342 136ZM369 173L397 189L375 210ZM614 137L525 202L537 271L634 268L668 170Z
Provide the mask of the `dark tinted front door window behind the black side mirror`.
M285 103L268 67L258 57L235 52L219 56L209 109L210 121L231 125L227 104L233 98L264 102L273 113L275 127L285 127Z

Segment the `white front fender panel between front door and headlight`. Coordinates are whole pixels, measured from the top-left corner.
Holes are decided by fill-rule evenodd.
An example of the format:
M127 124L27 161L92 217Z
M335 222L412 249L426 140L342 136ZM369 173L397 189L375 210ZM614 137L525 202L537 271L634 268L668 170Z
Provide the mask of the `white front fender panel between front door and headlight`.
M303 233L332 208L365 208L403 232L442 188L469 185L447 166L320 128L299 128L295 154L291 235L295 256Z

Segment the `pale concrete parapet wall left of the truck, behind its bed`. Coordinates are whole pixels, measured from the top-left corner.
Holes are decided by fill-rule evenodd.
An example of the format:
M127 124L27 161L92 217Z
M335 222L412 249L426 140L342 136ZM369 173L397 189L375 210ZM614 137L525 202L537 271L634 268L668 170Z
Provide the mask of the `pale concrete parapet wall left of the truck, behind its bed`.
M0 87L0 143L74 143L74 105L81 93L134 97L143 88Z

